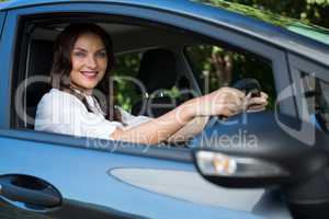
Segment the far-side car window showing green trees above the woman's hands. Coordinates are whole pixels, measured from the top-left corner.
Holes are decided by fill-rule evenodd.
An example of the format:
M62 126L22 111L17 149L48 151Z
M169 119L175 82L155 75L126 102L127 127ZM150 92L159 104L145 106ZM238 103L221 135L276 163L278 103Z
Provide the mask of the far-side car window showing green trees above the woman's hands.
M269 108L273 108L276 92L270 61L208 44L186 46L185 55L203 93L232 85L240 79L253 78L269 94Z

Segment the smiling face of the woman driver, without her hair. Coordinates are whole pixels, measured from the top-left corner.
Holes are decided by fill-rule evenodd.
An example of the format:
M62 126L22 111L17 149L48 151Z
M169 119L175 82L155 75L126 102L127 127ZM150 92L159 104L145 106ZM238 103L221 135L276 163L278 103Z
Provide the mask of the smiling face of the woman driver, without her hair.
M91 93L107 67L107 54L100 36L87 33L78 37L71 51L71 85Z

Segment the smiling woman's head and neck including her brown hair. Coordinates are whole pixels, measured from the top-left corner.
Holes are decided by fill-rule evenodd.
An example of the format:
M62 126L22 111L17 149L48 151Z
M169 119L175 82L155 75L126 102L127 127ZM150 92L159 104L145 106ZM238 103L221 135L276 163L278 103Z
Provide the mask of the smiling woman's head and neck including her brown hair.
M109 73L114 66L112 47L110 36L97 25L67 26L55 45L50 72L53 88L72 93L89 110L86 96L81 94L86 92L92 94L92 90L99 84L98 88L109 95L106 89L109 76L104 77L104 74ZM105 99L105 103L106 100L109 97Z

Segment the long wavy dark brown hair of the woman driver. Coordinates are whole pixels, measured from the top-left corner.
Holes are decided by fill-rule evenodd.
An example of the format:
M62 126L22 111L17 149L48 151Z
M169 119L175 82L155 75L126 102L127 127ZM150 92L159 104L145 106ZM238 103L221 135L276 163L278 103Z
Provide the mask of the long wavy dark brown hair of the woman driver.
M120 111L114 107L113 92L110 92L109 88L110 72L114 67L113 44L110 35L100 26L92 23L70 24L58 35L55 42L54 61L50 71L52 85L53 88L59 89L61 91L67 91L77 96L84 104L86 108L91 112L91 108L84 95L81 95L79 92L72 90L70 81L70 72L72 69L71 53L73 46L79 36L88 33L95 34L102 39L107 54L107 68L105 71L105 76L94 89L101 91L106 99L105 101L100 102L100 106L105 113L106 119L122 122ZM112 96L110 96L110 93Z

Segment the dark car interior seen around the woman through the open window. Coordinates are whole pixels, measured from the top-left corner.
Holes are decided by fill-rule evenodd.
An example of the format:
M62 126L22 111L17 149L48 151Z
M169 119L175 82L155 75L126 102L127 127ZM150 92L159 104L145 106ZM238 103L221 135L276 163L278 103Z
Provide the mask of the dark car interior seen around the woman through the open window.
M42 96L52 88L49 70L54 41L66 25L77 21L79 21L77 18L66 20L48 18L25 22L29 26L25 30L30 31L29 34L23 34L23 43L21 43L21 49L25 50L25 56L20 57L22 64L19 69L20 77L13 80L15 83L13 88L16 89L15 95L21 93L19 100L22 108L12 114L11 120L14 128L34 129L36 106ZM150 22L144 23L144 21L123 22L117 18L112 19L111 22L100 21L99 18L88 21L94 21L113 39L116 64L112 74L133 77L145 87L143 92L129 81L118 82L118 88L115 87L116 103L134 115L157 117L195 95L214 90L203 90L204 81L207 81L205 77L216 71L214 67L207 66L211 54L204 53L205 50L237 49L234 50L234 57L237 57L240 64L236 65L234 71L239 72L239 76L235 76L234 80L250 77L249 69L241 65L247 59L251 66L260 67L260 71L265 69L272 72L271 62L268 60L184 30ZM198 54L203 57L193 57ZM205 69L195 67L200 64L203 64ZM253 72L251 77L262 78L260 73L256 73L254 77ZM215 82L215 89L219 88L216 82L218 78L213 76L209 80L213 81L212 83ZM273 78L264 88L275 93L273 92ZM189 92L191 90L193 92ZM188 92L184 93L184 91ZM18 112L23 112L23 116Z

